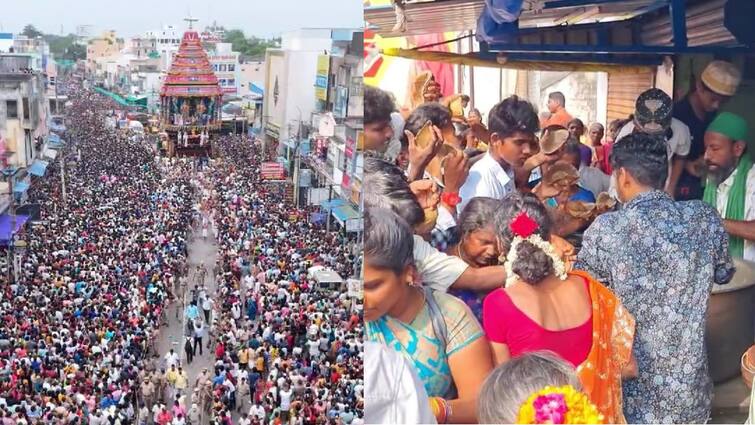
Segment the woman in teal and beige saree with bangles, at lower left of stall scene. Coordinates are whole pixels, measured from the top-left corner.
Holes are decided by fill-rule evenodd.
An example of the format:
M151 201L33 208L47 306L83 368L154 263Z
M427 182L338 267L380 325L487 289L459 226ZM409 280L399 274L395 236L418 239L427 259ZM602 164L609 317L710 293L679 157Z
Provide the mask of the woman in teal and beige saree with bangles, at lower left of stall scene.
M365 226L367 339L412 361L439 423L476 423L477 396L493 369L480 324L461 300L414 284L412 230L403 219L369 209Z

